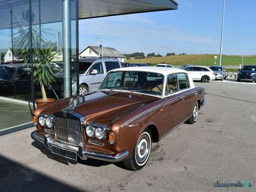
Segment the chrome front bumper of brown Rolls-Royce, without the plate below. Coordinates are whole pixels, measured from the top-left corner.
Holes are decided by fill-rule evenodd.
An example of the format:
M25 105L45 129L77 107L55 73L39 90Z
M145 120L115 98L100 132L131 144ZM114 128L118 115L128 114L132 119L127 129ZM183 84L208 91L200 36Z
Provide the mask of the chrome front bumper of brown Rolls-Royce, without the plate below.
M51 150L51 146L54 146L56 148L60 148L60 149L66 150L66 151L74 152L82 160L86 160L87 158L92 158L92 159L98 159L98 160L102 160L102 161L118 162L118 161L124 160L124 158L126 158L129 155L128 151L124 151L124 152L122 152L120 154L117 154L115 156L105 155L105 154L100 153L100 152L87 150L85 148L86 144L84 144L84 143L81 143L78 147L70 146L70 145L67 145L67 144L64 144L64 143L53 141L50 134L45 134L44 136L42 136L42 135L38 134L38 132L33 132L32 136L36 140L44 143L46 148L48 148L49 150Z

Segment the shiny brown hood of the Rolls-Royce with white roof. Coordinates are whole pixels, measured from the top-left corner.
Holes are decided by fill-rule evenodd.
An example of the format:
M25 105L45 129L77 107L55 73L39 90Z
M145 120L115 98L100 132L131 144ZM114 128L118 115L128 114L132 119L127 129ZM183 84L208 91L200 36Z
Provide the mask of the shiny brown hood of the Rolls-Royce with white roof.
M54 113L72 109L85 116L86 121L109 121L155 100L159 98L132 92L96 91L57 101L48 110Z

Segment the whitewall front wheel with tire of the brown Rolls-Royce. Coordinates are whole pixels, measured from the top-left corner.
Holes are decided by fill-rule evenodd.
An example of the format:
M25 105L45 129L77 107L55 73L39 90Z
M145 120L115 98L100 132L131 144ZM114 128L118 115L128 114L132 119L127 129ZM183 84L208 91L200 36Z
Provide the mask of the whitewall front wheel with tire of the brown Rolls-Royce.
M148 162L151 144L151 134L147 128L141 133L131 156L123 161L124 166L131 171L138 171L143 168Z

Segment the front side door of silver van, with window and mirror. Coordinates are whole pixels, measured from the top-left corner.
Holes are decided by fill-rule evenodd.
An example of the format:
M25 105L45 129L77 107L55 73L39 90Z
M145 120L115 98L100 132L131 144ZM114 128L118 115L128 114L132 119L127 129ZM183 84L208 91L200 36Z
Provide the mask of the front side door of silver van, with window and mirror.
M92 74L97 71L96 74ZM104 70L102 62L94 63L86 74L90 78L90 91L97 90L104 78Z

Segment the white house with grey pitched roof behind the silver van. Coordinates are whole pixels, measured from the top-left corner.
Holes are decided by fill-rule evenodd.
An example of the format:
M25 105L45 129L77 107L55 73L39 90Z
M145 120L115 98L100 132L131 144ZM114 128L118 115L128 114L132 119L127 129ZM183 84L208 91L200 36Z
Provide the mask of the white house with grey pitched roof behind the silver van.
M79 54L79 58L83 57L101 57L102 47L88 46ZM100 52L100 54L99 54ZM124 62L125 56L112 47L103 47L103 56L104 57L116 57L121 62Z

